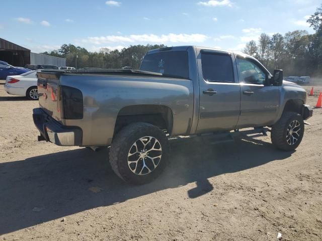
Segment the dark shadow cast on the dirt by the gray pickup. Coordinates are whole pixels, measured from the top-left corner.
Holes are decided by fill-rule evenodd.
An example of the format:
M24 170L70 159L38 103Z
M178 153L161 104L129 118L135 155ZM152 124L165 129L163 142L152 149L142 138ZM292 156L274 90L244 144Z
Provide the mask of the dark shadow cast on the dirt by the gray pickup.
M210 177L292 155L259 140L216 146L197 139L174 142L165 172L149 184L130 186L113 173L107 152L82 148L0 164L0 234L191 182L197 186L188 196L195 198L213 189ZM90 187L103 190L94 193Z

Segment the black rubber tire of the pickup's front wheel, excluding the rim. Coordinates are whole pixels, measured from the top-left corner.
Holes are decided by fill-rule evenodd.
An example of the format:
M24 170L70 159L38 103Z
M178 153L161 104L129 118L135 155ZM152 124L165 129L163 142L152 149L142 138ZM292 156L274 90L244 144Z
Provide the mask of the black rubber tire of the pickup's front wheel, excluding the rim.
M300 136L296 143L289 145L287 143L287 129L291 122L298 121L300 124ZM300 145L304 135L304 121L299 113L284 112L279 121L273 125L271 131L271 140L275 147L283 151L295 150Z

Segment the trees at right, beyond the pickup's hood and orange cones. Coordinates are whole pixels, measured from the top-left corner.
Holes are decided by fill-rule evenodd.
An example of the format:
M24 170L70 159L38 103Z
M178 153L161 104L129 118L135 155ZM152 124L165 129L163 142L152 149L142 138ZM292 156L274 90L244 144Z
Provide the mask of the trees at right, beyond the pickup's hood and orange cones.
M257 58L270 71L283 69L285 76L322 75L322 5L310 16L307 23L315 31L305 30L280 33L270 37L262 33L258 41L246 44L244 53Z

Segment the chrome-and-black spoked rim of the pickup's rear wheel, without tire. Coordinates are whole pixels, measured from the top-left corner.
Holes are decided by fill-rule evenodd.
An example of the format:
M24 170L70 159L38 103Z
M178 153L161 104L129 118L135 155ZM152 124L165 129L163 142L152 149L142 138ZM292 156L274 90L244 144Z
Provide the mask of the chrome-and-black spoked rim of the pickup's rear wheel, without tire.
M154 137L138 139L127 156L127 164L136 175L146 175L152 172L160 163L162 147Z

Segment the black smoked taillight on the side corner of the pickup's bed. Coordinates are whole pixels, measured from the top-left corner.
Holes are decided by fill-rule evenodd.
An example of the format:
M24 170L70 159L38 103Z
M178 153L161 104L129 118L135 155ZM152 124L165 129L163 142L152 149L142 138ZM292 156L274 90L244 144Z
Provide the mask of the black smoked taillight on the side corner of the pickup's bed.
M70 86L60 85L62 117L64 119L83 118L82 91Z

